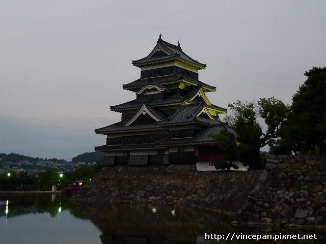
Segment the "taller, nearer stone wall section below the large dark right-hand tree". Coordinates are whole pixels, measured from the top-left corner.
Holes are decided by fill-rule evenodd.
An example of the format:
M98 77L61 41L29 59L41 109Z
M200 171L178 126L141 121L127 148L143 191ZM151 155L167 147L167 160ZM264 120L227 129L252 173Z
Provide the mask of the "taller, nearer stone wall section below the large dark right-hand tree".
M324 158L269 155L265 170L238 210L249 224L326 227Z

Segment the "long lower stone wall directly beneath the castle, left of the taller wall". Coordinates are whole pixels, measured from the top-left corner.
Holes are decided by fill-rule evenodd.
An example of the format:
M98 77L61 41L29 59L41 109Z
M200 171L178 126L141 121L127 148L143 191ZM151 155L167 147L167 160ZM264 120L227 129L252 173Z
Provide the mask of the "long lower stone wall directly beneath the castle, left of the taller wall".
M188 204L234 212L257 185L261 172L197 172L194 164L105 167L71 201Z

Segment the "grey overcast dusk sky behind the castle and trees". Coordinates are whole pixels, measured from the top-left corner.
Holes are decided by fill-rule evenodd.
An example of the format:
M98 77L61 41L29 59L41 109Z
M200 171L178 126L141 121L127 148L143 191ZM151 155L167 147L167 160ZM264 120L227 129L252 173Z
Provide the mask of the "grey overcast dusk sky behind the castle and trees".
M105 144L94 129L134 99L131 60L159 34L207 64L215 105L275 97L286 104L325 67L326 1L0 0L0 153L72 157Z

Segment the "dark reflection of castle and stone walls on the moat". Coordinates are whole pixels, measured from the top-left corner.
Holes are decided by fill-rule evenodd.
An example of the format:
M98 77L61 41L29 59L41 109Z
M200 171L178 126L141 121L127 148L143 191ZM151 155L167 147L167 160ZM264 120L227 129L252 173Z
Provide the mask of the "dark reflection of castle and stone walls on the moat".
M153 211L153 208L155 210ZM141 205L97 205L80 208L101 230L103 244L152 244L152 243L252 243L251 239L241 239L246 235L316 234L318 239L297 240L260 240L262 243L324 243L324 231L297 230L287 228L232 226L232 218L221 216L208 210L179 207L175 215L171 207ZM231 241L225 240L227 234L236 235ZM213 234L213 235L210 235ZM219 241L216 235L224 235ZM237 239L238 237L239 239ZM282 236L280 235L280 238Z

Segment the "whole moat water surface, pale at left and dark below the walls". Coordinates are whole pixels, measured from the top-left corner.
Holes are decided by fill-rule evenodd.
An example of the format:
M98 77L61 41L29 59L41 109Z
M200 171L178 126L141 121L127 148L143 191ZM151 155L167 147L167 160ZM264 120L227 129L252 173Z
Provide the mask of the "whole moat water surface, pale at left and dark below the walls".
M156 208L153 212L152 208ZM326 231L232 226L231 219L189 207L73 206L61 195L0 195L0 243L170 244L324 243ZM223 236L224 235L224 236ZM289 238L291 235L292 239ZM297 237L312 239L298 240ZM309 236L310 235L310 236ZM209 237L209 239L205 239ZM231 240L231 237L233 239ZM248 238L270 238L255 241ZM246 238L247 239L243 239ZM315 237L317 239L315 239ZM218 240L220 238L220 240ZM228 238L228 239L226 239ZM242 238L242 239L241 239ZM280 238L283 238L280 240Z

